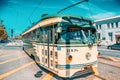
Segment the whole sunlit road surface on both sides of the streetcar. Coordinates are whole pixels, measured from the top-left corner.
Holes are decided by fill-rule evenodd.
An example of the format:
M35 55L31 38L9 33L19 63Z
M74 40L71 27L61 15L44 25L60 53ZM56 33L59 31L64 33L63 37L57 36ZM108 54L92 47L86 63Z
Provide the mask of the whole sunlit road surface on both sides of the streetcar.
M101 49L102 51L109 51ZM103 52L105 52L103 51ZM113 52L111 52L112 54ZM106 80L120 80L120 68L103 64L98 60L100 76ZM110 62L107 62L110 63ZM114 62L113 62L114 63ZM41 73L42 71L42 73ZM115 77L115 78L114 78ZM21 46L0 45L0 80L62 80L57 75L39 67ZM81 75L71 80L95 80L92 75Z

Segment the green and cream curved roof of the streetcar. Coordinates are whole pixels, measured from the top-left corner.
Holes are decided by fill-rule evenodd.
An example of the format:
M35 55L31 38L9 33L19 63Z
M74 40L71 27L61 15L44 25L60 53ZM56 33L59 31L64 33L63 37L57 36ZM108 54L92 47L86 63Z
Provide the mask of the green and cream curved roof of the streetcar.
M75 17L75 18L79 18L79 19L90 20L90 19L85 18L85 17L73 16L73 15L64 15L64 14L45 15L36 24L32 25L32 27L30 27L25 32L23 32L22 35L25 35L25 34L31 32L31 31L39 28L39 27L43 27L43 26L47 26L47 25L50 25L50 24L56 24L58 22L61 22L62 21L62 17Z

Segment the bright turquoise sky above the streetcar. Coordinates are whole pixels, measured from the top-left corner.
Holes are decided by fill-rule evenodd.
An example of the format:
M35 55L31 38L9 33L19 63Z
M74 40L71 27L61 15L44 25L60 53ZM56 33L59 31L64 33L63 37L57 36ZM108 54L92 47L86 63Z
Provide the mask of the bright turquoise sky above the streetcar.
M80 0L0 0L0 19L11 35L20 35L32 23L41 19L42 14L56 14L59 10ZM82 1L82 0L81 0ZM120 16L120 0L89 0L61 14L85 16L94 20Z

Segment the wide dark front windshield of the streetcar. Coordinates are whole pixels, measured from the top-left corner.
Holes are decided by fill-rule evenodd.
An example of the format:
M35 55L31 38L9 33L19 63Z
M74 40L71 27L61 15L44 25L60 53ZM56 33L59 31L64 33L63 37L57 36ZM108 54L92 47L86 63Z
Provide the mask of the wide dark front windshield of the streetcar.
M96 30L92 28L68 27L66 32L61 33L61 42L81 43L96 42Z

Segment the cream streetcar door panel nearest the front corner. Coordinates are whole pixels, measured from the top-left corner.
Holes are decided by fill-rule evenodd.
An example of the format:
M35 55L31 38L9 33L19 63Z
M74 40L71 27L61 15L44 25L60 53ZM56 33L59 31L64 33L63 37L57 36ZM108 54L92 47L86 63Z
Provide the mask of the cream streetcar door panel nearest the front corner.
M55 31L55 26L57 25L52 25L49 30L49 67L50 69L57 71L56 64L58 63L57 61L57 50L56 50L56 44L55 44L55 36L56 36L56 31Z

